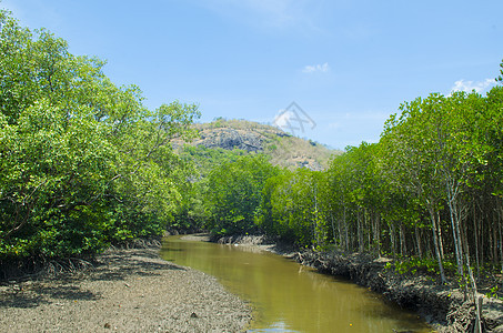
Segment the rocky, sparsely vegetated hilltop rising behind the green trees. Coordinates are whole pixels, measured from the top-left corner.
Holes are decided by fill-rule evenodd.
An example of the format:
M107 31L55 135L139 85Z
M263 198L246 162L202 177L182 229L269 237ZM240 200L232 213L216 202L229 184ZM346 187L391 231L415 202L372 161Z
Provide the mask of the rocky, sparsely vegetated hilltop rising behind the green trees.
M293 137L278 128L247 120L218 119L210 123L195 124L199 138L190 145L207 149L240 150L241 153L264 153L271 163L288 169L309 168L323 170L338 150L301 138ZM181 148L181 142L175 142Z

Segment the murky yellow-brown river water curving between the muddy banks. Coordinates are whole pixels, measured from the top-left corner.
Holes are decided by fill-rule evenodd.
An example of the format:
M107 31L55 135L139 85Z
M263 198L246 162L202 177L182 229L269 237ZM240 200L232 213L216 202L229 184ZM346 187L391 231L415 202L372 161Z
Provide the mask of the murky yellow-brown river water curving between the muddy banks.
M165 239L164 260L219 279L251 303L251 332L431 332L413 313L348 281L272 253L243 246Z

